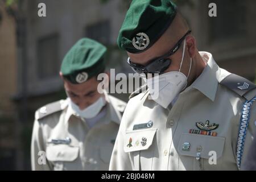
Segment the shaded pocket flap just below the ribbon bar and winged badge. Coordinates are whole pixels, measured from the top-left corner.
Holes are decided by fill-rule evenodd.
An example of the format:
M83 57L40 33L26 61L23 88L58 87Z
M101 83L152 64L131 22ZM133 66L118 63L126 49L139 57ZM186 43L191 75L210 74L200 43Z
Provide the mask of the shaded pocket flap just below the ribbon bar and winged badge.
M185 145L184 147L184 144L187 144L187 146ZM192 157L196 157L197 153L200 152L201 158L204 159L209 159L216 152L218 159L222 156L224 144L224 137L183 133L180 138L178 151L180 155Z

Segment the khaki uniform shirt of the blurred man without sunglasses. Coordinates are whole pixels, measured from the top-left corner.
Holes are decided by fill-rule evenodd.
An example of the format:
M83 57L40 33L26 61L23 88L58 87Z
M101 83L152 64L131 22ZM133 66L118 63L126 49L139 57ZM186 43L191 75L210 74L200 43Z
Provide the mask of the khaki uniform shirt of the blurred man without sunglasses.
M105 98L106 114L92 128L73 114L67 100L36 111L32 170L107 170L126 103Z

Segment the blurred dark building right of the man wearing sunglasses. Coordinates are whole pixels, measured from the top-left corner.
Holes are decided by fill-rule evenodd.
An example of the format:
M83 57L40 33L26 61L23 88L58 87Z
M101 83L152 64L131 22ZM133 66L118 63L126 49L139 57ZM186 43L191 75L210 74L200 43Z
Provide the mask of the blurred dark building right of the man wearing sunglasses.
M200 51L213 54L221 68L254 81L256 72L256 1L191 1L197 7L184 13ZM217 17L208 16L216 3ZM189 11L187 11L189 12Z

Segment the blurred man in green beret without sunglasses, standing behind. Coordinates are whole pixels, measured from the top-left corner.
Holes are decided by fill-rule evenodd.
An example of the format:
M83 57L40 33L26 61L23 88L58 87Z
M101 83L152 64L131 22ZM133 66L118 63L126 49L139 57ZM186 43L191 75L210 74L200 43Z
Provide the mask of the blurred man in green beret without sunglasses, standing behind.
M84 38L64 57L60 76L68 98L35 113L33 170L108 169L126 103L98 92L105 52L105 46Z

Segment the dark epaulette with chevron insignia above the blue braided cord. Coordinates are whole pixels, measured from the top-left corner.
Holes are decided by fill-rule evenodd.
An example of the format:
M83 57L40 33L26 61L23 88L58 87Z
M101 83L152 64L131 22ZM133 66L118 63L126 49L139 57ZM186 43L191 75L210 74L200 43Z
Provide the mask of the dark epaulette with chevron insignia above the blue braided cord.
M253 82L243 78L241 76L231 74L224 78L220 84L226 86L239 96L244 97L246 100L251 100L255 97L255 94L249 94L256 89L256 85ZM256 93L256 90L255 90Z

